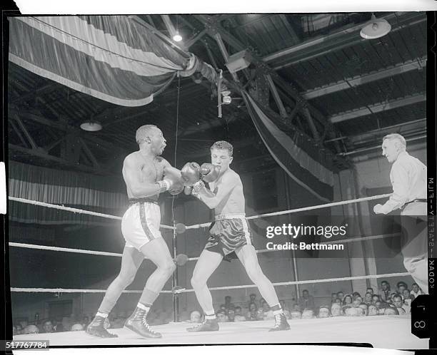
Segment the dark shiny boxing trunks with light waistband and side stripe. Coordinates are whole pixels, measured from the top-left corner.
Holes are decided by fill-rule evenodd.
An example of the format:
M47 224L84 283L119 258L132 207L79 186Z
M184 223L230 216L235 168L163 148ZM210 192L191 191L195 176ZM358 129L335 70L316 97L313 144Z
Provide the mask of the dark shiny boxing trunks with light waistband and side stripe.
M241 213L217 215L209 227L209 238L204 249L217 252L230 262L237 258L235 251L244 245L253 245L246 216Z

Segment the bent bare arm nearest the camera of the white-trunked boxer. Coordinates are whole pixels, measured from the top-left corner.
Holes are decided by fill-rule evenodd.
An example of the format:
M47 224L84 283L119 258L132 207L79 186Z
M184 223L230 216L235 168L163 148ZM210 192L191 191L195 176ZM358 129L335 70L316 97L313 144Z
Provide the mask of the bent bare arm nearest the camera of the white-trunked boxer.
M136 198L149 197L164 192L164 187L158 182L144 181L136 161L127 157L123 163L123 178L126 186Z

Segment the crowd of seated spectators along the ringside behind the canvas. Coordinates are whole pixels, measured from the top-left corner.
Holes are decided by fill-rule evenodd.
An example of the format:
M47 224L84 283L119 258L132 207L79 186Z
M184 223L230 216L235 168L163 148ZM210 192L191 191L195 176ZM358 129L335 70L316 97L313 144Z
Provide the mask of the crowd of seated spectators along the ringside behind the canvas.
M309 319L327 317L357 317L357 316L377 316L380 314L410 314L411 302L418 295L423 294L416 283L408 285L405 282L398 282L396 289L392 290L387 281L381 282L381 289L374 292L372 288L366 289L361 296L358 292L345 294L342 291L331 294L331 304L315 306L314 298L308 290L302 291L298 302L293 302L288 308L286 302L280 300L281 307L287 319ZM259 321L274 319L268 303L261 297L256 299L256 294L251 294L245 304L234 305L230 296L225 297L225 302L216 310L216 317L219 322L227 321ZM119 312L110 315L106 319L106 328L122 328L127 319L126 312ZM173 312L169 310L152 310L148 315L151 325L166 324L173 321ZM53 333L59 331L81 331L88 326L90 319L86 315L81 317L61 317L56 319L39 319L39 314L35 314L34 321L19 320L14 321L13 334L37 334ZM199 310L191 312L181 312L180 321L189 323L200 323L203 321L203 314Z

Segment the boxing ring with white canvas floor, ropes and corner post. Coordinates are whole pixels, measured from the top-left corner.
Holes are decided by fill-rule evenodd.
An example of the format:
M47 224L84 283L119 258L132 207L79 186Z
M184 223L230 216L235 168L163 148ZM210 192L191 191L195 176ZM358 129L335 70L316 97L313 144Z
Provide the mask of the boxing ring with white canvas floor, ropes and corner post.
M388 197L390 194L363 197L355 200L346 200L340 202L331 202L323 205L301 207L294 210L281 212L266 213L263 215L253 215L246 217L247 220L253 220L260 217L269 217L275 215L286 215L308 210L317 210L326 207L347 205L369 200L378 200ZM110 218L121 220L121 217L105 215L98 212L79 210L76 208L65 207L62 205L52 205L45 202L26 200L19 197L10 197L9 200L26 203L30 205L39 205L48 208L66 210L74 213L83 213L94 215L96 217ZM208 227L210 222L185 226L181 223L168 226L161 225L161 228L173 232L173 257L176 264L184 265L186 262L194 262L198 257L186 257L184 254L176 254L176 239L179 234L202 227ZM389 236L389 235L388 235ZM335 242L361 242L363 240L374 240L387 237L387 235L370 235ZM331 241L321 244L329 244ZM9 242L9 247L26 248L26 249L44 249L53 252L71 252L79 254L94 254L107 257L121 257L122 254L114 252L100 252L96 250L71 249L65 247L51 247L46 245L31 245L24 243ZM258 249L257 253L278 252L278 250ZM262 268L262 264L261 264ZM396 272L389 274L370 274L353 277L335 277L325 279L307 279L288 282L273 282L274 286L297 285L297 284L314 284L321 282L340 282L352 281L358 279L378 279L386 277L408 276L408 272ZM177 274L174 275L172 282L173 289L162 290L163 294L172 294L174 299L174 321L169 324L153 326L153 329L159 331L163 336L160 339L143 339L134 332L126 328L110 329L119 337L114 339L99 339L85 331L64 331L59 333L48 334L21 334L14 336L14 340L49 340L51 346L102 346L102 345L160 345L160 344L288 344L288 343L370 343L374 347L386 349L428 349L427 339L418 339L411 334L411 317L409 315L400 316L367 316L367 317L329 317L323 319L290 319L288 320L290 331L268 332L271 328L272 321L241 321L220 323L220 331L189 333L186 328L192 324L189 322L177 322L177 297L181 293L194 292L193 289L184 289L178 287ZM234 285L225 287L210 287L211 292L219 289L241 289L255 288L253 284ZM64 288L23 288L11 287L11 292L46 292L46 293L102 293L106 289L64 289ZM141 290L124 290L123 293L141 294Z

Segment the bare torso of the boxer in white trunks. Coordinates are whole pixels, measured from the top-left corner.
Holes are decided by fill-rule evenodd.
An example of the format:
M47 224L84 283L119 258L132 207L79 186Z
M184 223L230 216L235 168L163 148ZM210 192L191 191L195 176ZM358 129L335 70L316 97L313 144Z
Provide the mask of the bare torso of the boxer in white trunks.
M123 178L126 183L127 195L129 198L140 198L145 196L136 196L132 193L131 187L129 186L129 181L126 178L129 174L136 174L140 182L154 183L162 180L164 175L164 165L166 160L161 157L155 158L145 158L139 151L129 154L126 157L127 161L131 165L131 169L126 169L125 164L123 165ZM158 200L159 194L148 196L152 200Z

